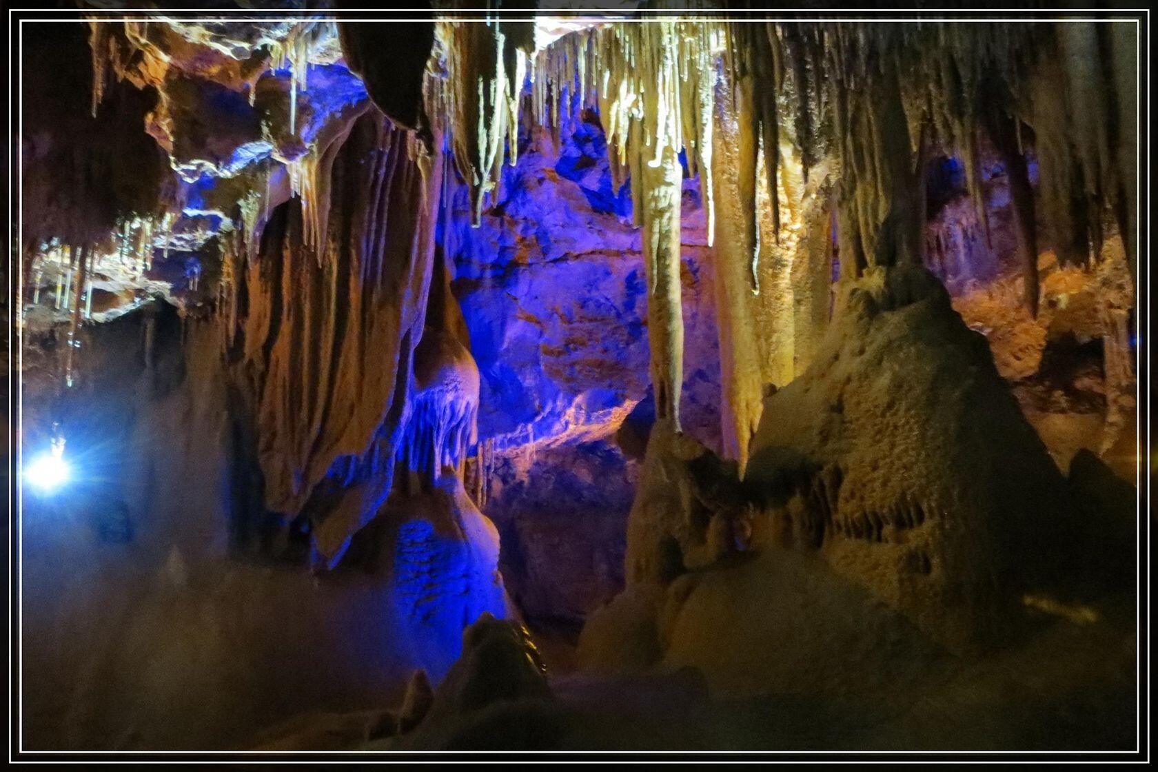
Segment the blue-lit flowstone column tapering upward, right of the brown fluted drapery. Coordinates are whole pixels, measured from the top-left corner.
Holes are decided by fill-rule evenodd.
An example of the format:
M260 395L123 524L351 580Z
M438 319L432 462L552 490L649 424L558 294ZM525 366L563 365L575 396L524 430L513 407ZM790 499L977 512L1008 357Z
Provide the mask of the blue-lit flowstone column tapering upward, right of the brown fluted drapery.
M441 678L464 624L512 609L498 572L498 531L463 486L467 450L477 441L478 367L460 339L463 322L441 262L438 273L397 449L409 471L383 513L397 530L379 550L393 553L387 573L412 625L410 645L430 652L416 660Z

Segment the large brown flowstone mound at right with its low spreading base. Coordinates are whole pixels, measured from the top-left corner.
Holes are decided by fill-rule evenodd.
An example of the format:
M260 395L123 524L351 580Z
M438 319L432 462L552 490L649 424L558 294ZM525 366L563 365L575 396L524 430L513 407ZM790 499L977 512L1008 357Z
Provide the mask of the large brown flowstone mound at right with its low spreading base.
M733 696L917 689L1042 611L1098 622L1131 581L1130 502L1093 490L1112 472L1083 451L1067 483L921 269L850 288L813 365L765 397L753 448L741 483L652 428L626 587L584 627L582 666L690 666Z

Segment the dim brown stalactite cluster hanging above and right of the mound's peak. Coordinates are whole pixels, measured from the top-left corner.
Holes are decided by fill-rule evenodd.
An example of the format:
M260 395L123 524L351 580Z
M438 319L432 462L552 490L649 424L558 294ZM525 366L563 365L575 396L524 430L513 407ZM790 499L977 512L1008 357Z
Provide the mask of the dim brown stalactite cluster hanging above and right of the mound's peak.
M1028 159L1040 163L1036 198L1063 259L1084 263L1097 256L1105 226L1115 221L1133 243L1137 41L1131 24L783 28L802 41L793 57L812 51L809 60L823 61L824 76L815 83L827 95L816 101L829 105L829 116L821 120L829 125L841 161L841 190L855 213L848 225L863 235L862 243L853 244L860 253L842 262L919 259L919 251L877 249L877 235L903 193L902 184L918 188L916 175L935 147L962 159L988 237L981 185L984 144L1009 176L1031 311L1038 302L1039 244ZM903 117L896 110L897 94ZM908 147L895 142L902 120ZM811 155L807 148L805 155ZM908 183L904 155L911 156L908 163L915 170ZM893 178L896 174L901 179Z

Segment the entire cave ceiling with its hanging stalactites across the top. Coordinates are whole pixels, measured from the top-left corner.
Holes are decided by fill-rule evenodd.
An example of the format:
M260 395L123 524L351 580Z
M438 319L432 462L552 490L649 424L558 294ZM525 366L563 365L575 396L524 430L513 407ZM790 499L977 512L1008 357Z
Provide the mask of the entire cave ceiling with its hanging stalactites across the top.
M111 6L89 3L86 20L64 35L30 31L23 271L58 295L75 275L78 301L39 307L25 324L72 318L75 328L87 281L89 304L95 287L119 300L87 308L86 318L113 318L162 295L184 313L228 316L227 338L236 343L235 317L257 297L255 277L272 281L262 260L293 228L294 249L318 273L286 272L291 300L283 302L308 304L323 277L346 280L358 265L364 280L378 271L386 284L374 292L413 295L387 302L397 314L380 330L409 361L426 321L445 191L469 191L468 219L478 226L503 204L521 133L558 145L582 116L598 116L614 192L629 190L642 229L657 416L676 425L681 197L694 181L717 275L723 450L742 475L764 384L783 380L760 363L768 360L758 355L761 293L776 281L776 255L807 241L818 201L833 201L842 278L917 265L928 162L960 160L988 229L982 167L997 157L1010 177L1031 314L1040 242L1048 240L1062 264L1083 265L1119 233L1134 260L1136 42L1126 25L659 14L637 23L632 6L620 20L595 20L534 16L533 3L482 16L439 5L430 21L376 23L340 20L340 8L337 17L312 9L271 21L252 8L204 21L115 17ZM277 6L285 7L295 6ZM404 156L366 178L381 188L378 198L362 200L350 188L362 174L351 157L359 146ZM287 203L300 209L288 225ZM387 215L405 228L386 235ZM353 237L361 251L344 258ZM398 258L382 250L422 257L396 275L383 266ZM296 272L290 251L283 257ZM336 330L338 351L345 344ZM256 346L259 332L249 330L242 347ZM278 348L266 348L245 355L273 372ZM71 354L68 367L71 378ZM296 456L278 461L287 478L281 508L303 507L336 457L365 455L379 441L374 432L390 424L393 381L379 384L361 431L299 438Z

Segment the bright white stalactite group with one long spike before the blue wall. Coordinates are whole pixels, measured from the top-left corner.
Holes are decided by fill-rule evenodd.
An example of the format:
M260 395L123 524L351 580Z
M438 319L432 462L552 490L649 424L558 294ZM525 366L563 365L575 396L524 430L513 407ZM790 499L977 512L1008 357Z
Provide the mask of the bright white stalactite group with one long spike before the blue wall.
M683 382L682 168L677 155L687 150L689 171L699 174L709 233L714 234L714 68L705 65L718 56L721 35L718 24L675 19L616 24L570 36L541 52L535 65L537 119L557 130L564 98L574 100L564 115L578 108L598 109L616 189L624 182L623 170L631 174L633 213L643 228L648 279L647 329L657 416L673 419L676 426ZM600 82L588 86L588 74L595 73Z

